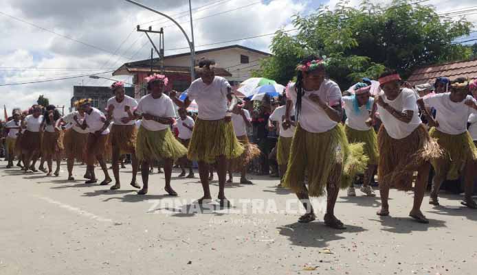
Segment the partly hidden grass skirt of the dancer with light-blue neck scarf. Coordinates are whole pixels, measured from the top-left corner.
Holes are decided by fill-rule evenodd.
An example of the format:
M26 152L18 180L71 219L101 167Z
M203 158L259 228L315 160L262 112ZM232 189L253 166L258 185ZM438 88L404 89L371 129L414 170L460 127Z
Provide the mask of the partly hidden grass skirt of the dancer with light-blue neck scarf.
M377 165L379 162L379 151L377 149L377 134L373 128L367 131L355 130L348 125L344 125L344 132L349 143L364 143L364 154L368 156L368 165Z

